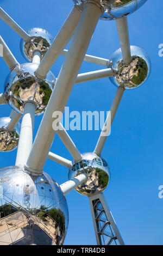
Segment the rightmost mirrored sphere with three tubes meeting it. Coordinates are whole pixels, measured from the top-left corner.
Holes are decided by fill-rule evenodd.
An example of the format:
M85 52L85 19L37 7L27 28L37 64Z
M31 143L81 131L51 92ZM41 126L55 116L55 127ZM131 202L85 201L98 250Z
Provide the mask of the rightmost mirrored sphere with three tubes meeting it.
M151 61L144 50L131 46L131 63L125 64L121 48L114 52L110 58L110 68L114 70L114 77L109 77L115 86L124 86L133 89L146 82L151 72Z

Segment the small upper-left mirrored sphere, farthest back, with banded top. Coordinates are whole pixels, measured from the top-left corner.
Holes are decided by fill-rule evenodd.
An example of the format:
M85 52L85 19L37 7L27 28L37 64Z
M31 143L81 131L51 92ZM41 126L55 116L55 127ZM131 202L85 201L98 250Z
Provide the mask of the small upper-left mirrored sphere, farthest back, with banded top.
M31 28L27 33L30 35L30 40L21 39L20 43L24 58L31 62L34 52L39 51L42 59L53 42L53 36L42 28Z

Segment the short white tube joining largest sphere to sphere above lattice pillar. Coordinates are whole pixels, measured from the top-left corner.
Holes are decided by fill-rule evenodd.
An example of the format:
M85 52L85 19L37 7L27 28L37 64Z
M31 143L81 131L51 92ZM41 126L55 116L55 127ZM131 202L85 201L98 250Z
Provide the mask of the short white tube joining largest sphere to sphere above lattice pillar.
M72 191L74 188L82 184L87 180L87 175L82 173L76 176L76 178L72 180L68 180L65 183L60 185L61 191L64 194L67 194L68 192Z

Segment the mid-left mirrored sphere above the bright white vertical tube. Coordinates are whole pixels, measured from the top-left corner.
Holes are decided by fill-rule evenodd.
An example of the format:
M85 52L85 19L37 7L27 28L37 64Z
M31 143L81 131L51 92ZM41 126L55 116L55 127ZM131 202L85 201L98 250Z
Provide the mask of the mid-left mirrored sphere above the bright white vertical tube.
M46 79L38 80L34 74L37 67L36 63L17 66L5 81L4 92L10 106L18 113L23 113L23 104L29 100L36 103L36 115L45 111L55 84L55 77L49 71Z

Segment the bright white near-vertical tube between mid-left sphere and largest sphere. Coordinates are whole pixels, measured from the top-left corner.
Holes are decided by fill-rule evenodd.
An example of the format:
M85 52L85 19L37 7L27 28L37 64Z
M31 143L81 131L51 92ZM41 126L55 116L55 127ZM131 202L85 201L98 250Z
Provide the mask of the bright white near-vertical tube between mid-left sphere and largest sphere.
M33 130L35 120L35 103L26 102L21 124L20 138L16 155L16 166L24 166L33 143Z

